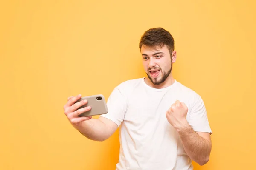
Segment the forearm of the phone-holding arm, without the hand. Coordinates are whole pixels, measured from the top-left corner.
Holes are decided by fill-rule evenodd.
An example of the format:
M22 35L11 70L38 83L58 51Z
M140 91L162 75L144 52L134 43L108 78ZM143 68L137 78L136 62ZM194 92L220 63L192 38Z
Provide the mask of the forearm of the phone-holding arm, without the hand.
M94 141L104 141L108 139L111 134L109 134L108 127L100 119L90 119L81 122L81 125L74 126L82 135L88 139Z

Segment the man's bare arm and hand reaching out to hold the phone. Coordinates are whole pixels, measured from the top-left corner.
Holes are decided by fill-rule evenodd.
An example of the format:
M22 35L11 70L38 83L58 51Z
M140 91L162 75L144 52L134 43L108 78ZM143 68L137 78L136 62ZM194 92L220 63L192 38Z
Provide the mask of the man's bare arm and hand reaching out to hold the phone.
M68 98L66 105L64 105L64 113L70 123L88 139L95 141L108 139L118 128L116 123L104 117L99 117L99 119L92 119L92 116L79 117L79 114L91 109L90 106L78 109L87 103L86 100L76 103L80 98L81 95L71 96Z

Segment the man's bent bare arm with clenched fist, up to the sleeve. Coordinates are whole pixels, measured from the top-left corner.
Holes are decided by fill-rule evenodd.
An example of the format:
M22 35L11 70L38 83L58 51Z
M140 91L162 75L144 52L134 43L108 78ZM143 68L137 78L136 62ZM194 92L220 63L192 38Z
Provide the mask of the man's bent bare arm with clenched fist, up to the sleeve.
M199 165L204 165L209 161L212 148L210 134L195 132L186 120L187 112L186 105L183 102L176 101L166 111L166 118L177 130L187 155Z

